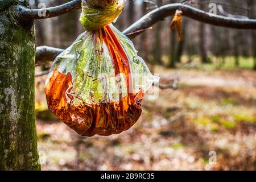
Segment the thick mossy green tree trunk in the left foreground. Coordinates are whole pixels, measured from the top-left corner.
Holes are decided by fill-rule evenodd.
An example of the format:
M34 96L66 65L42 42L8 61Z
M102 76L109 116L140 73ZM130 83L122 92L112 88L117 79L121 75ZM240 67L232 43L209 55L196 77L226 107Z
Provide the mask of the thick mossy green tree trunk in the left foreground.
M35 126L35 27L0 2L0 170L40 170ZM27 6L26 1L23 2ZM3 8L5 6L5 8Z

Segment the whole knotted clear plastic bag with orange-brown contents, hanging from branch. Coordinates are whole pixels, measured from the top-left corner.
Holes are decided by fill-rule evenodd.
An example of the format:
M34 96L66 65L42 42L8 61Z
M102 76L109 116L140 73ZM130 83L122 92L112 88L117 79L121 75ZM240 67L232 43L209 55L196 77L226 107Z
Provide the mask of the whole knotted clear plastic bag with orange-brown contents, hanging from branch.
M141 115L144 92L158 81L133 43L109 24L124 3L82 1L86 31L56 57L46 81L49 110L82 136L128 130Z

